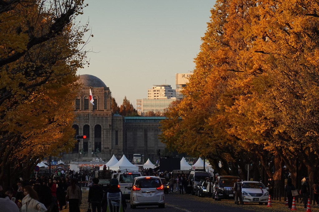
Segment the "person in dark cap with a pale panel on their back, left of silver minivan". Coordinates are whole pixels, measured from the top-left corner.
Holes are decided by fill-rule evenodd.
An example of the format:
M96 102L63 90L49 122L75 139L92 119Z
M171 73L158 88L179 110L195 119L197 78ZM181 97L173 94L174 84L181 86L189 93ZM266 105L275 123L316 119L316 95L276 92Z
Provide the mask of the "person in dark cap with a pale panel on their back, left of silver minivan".
M115 210L112 210L113 212L124 212L127 204L122 191L118 187L119 181L116 178L112 178L110 184L111 187L105 192L102 200L102 212L106 212L107 209L108 211L111 211L109 208L115 208ZM115 205L111 205L112 202L122 202L122 204L120 204L120 207L116 207Z

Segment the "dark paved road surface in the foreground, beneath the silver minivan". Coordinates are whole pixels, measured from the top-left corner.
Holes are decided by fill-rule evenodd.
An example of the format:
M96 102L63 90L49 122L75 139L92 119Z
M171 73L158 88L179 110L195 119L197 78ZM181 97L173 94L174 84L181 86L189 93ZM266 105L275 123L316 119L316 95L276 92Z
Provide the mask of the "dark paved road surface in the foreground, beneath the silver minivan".
M126 211L141 211L147 209L148 211L152 212L176 212L176 211L184 211L184 212L211 212L211 211L218 211L218 212L228 212L228 211L236 211L236 212L248 212L252 210L247 210L244 206L224 206L218 204L216 201L202 201L196 196L188 196L187 194L184 195L172 195L166 194L165 195L165 208L158 208L157 206L138 206L137 209L130 208L130 203L128 202L128 208Z

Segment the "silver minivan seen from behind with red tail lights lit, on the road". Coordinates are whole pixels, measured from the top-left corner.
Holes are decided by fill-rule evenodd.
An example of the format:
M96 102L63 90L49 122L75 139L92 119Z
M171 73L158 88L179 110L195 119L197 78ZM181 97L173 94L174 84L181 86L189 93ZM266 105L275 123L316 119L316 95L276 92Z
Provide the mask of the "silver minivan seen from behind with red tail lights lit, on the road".
M164 185L159 177L135 177L130 194L131 208L136 206L158 205L165 208Z

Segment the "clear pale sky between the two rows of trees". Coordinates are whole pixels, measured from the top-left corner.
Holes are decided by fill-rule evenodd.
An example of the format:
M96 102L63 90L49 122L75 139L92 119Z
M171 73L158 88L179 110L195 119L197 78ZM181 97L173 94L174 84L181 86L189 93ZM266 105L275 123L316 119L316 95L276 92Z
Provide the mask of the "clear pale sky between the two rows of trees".
M189 73L215 1L86 0L80 15L89 20L93 37L86 45L89 67L78 74L100 78L120 106L126 96L147 98L154 84L173 89L176 73ZM78 18L78 20L79 20ZM94 93L93 93L94 95Z

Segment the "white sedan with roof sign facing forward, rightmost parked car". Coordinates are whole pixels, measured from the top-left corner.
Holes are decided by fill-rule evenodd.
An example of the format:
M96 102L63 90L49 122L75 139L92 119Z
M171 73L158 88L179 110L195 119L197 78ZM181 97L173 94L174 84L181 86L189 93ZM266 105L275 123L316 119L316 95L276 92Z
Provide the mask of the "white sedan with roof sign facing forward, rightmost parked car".
M260 205L268 204L269 188L266 188L262 182L242 181L242 201L258 202Z

